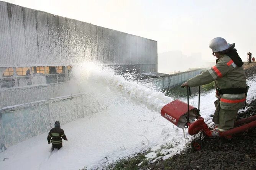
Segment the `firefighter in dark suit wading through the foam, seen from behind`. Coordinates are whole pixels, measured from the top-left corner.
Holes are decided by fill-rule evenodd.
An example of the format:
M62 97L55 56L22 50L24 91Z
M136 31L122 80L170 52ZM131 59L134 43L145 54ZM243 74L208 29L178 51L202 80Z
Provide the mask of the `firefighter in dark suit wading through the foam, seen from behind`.
M67 141L67 137L64 134L64 130L61 129L61 123L59 123L59 121L56 121L54 123L54 126L55 127L51 129L47 136L48 144L53 144L53 147L51 149L52 151L54 150L54 148L57 148L59 150L62 147L62 139Z

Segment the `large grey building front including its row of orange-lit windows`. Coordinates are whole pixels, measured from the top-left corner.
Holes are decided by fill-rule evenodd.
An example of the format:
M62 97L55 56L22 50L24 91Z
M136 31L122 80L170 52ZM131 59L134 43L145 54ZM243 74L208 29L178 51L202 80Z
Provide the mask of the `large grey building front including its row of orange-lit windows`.
M1 1L0 37L0 108L30 102L24 91L61 86L81 62L157 72L156 41Z

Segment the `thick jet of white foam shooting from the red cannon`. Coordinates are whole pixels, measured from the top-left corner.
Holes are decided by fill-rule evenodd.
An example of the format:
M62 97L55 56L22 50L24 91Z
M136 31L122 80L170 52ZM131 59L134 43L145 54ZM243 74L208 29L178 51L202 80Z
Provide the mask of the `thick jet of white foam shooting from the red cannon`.
M157 112L160 112L164 105L173 100L162 92L157 92L132 80L125 80L124 77L116 75L112 69L103 68L93 63L81 64L73 70L73 73L80 90L87 94L88 92L109 92L108 100L112 98L110 95L119 92L119 95L128 97L136 103L143 104L149 110ZM94 95L96 94L94 93ZM98 97L102 98L103 93L99 95Z

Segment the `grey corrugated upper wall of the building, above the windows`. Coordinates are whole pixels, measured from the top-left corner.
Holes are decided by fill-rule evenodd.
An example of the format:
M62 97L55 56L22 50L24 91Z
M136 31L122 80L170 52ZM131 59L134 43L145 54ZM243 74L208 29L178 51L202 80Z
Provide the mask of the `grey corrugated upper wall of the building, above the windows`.
M157 72L156 41L7 2L0 2L0 37L0 67L94 61Z

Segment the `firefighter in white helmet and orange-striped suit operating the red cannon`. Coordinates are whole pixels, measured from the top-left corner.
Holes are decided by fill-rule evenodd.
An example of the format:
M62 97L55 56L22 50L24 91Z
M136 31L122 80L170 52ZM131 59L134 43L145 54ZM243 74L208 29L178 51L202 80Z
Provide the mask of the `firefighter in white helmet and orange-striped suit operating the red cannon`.
M209 47L213 56L217 57L216 65L190 78L181 87L196 87L215 82L216 100L213 122L216 125L215 132L224 132L234 127L236 114L245 105L246 86L243 62L238 56L235 43L229 44L224 38L214 38Z

